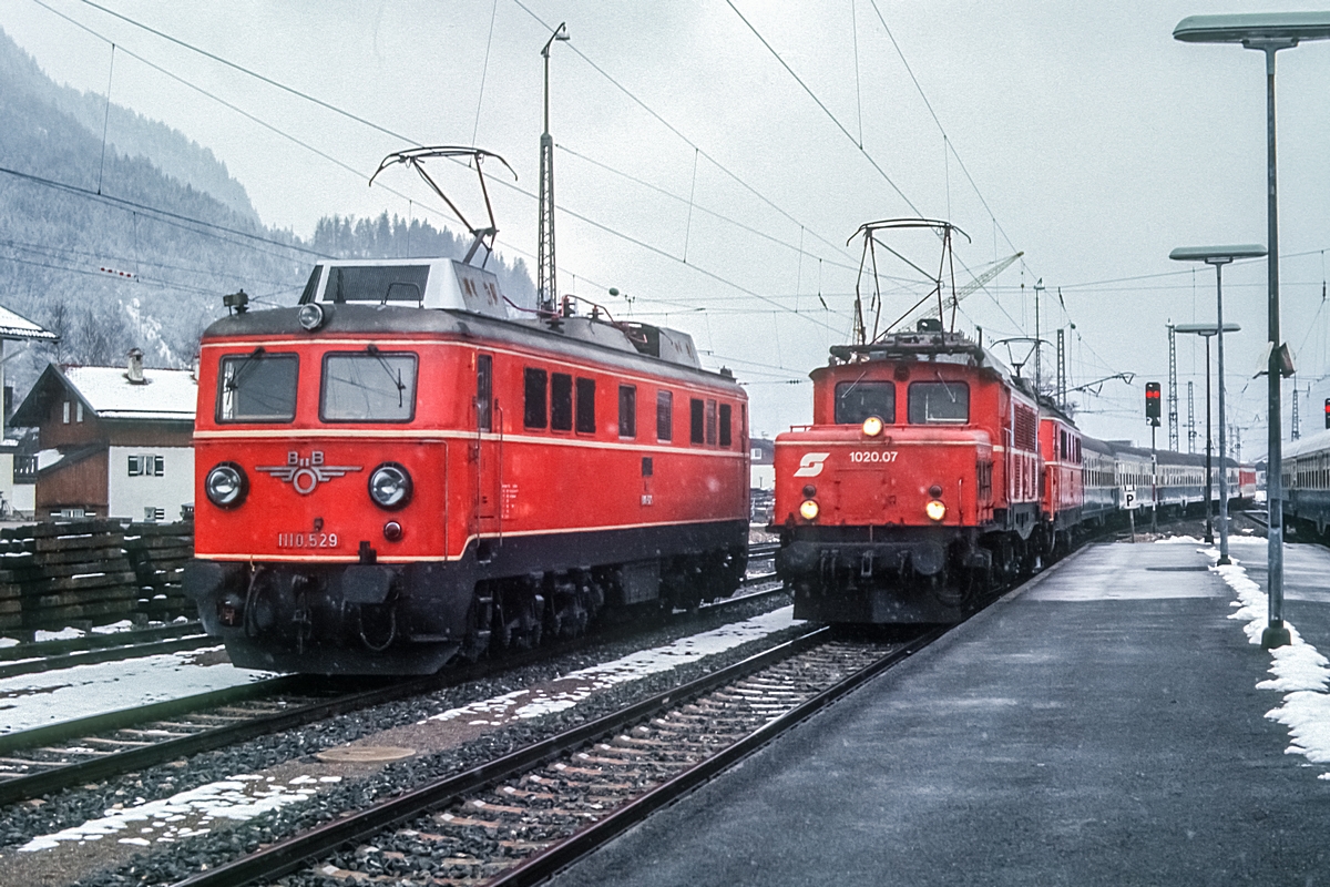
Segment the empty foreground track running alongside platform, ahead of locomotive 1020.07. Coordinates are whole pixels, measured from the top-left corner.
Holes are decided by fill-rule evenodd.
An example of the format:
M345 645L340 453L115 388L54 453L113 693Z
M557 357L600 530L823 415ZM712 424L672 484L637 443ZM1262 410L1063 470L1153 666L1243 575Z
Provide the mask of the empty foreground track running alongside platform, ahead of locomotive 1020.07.
M533 884L939 637L819 628L692 684L416 787L177 887L307 870L351 883ZM354 846L354 847L352 847Z

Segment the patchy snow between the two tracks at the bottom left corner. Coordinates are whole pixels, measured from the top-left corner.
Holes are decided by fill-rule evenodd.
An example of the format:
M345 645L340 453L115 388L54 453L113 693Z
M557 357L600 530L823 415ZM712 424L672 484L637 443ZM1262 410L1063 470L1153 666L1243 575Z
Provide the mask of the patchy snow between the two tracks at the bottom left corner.
M122 844L140 847L206 835L210 831L207 823L214 819L253 819L261 813L307 801L319 782L340 781L342 777L295 777L289 785L282 785L273 777L234 775L222 782L209 782L181 791L164 801L136 798L129 806L116 805L98 819L33 838L19 847L19 852L52 850L66 840L86 843L113 835L122 835Z

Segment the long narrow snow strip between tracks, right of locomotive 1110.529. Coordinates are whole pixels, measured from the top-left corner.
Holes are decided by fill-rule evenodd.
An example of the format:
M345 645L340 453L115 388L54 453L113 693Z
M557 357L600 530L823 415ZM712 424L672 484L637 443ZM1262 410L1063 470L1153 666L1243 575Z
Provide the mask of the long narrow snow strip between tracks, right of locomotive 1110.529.
M571 709L592 693L616 684L636 681L657 672L669 672L716 653L724 653L758 637L787 629L802 620L794 618L794 608L783 606L743 622L724 625L713 632L680 638L673 644L640 650L613 662L601 662L587 669L569 672L548 689L517 690L483 702L472 702L460 709L450 709L430 721L467 718L468 723L503 725L521 718L535 718L551 711Z

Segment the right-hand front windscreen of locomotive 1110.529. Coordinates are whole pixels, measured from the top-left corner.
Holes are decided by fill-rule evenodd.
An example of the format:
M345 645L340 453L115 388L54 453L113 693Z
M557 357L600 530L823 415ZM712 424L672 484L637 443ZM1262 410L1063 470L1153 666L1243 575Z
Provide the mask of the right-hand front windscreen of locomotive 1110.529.
M323 422L411 422L415 415L416 355L370 346L323 355Z

